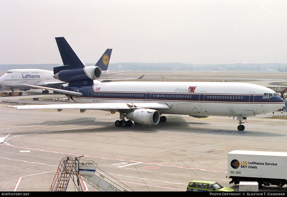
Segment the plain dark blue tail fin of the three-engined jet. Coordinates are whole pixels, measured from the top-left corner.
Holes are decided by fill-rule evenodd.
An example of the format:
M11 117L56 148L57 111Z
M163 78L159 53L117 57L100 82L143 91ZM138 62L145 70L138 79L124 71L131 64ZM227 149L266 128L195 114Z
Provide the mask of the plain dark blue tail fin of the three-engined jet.
M75 51L69 45L64 37L56 37L56 42L58 45L59 52L64 66L54 67L54 74L60 72L61 70L75 69L85 67L85 64L77 56Z

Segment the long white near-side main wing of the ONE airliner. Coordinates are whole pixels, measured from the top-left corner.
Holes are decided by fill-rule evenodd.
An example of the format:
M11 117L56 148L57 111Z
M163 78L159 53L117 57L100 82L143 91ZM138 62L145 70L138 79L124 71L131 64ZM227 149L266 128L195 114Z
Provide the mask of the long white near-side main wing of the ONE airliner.
M52 105L13 105L5 106L16 109L98 109L105 111L135 110L135 109L169 109L166 103L73 103L73 104L52 104Z

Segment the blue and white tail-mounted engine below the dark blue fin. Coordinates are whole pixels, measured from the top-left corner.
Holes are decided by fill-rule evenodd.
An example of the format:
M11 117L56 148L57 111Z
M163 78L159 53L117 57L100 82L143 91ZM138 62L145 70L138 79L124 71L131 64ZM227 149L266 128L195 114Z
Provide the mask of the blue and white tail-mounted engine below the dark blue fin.
M102 70L98 66L86 66L77 69L61 70L54 75L55 79L63 82L92 81L102 76Z

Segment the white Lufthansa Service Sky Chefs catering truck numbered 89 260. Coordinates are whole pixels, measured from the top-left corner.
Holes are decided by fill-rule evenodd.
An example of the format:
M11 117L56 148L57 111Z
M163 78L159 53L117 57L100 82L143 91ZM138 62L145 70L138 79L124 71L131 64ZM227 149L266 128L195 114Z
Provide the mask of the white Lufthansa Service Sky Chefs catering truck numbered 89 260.
M287 184L287 152L233 150L227 155L229 184L257 181L259 186Z

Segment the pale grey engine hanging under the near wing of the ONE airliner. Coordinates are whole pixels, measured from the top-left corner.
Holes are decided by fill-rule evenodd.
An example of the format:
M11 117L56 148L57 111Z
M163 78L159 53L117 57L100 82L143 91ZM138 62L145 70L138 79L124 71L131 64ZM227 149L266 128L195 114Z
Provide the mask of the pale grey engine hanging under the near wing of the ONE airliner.
M135 123L147 126L156 125L160 121L160 113L154 109L136 109L126 113L125 117Z

